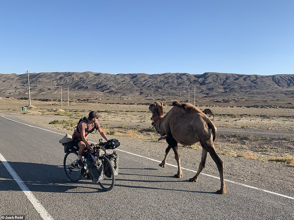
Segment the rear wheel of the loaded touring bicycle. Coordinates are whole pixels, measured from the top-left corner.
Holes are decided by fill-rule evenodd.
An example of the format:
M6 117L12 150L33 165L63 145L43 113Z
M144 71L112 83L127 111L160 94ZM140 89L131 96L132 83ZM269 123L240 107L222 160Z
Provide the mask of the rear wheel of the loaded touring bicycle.
M65 174L73 182L77 182L82 178L81 168L77 164L77 156L76 151L69 151L65 154L63 160Z

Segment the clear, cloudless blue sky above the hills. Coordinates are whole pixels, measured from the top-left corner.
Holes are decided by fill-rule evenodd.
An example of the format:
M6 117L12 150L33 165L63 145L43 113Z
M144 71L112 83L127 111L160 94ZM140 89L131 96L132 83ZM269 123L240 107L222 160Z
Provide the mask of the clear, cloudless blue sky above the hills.
M2 0L0 73L294 73L293 0Z

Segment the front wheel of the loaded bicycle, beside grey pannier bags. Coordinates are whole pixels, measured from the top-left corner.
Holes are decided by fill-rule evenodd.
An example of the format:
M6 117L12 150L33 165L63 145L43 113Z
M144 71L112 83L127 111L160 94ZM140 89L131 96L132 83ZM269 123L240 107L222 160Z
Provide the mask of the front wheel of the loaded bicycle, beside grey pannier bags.
M114 186L114 169L107 157L102 157L101 161L103 167L103 180L98 183L102 189L109 191Z

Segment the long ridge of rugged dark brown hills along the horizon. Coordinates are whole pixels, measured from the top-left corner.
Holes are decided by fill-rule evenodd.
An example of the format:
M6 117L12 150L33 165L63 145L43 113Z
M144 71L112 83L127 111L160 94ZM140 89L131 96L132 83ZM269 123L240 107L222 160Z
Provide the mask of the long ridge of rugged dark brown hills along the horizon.
M233 73L107 74L92 72L30 73L32 97L58 98L61 87L67 95L85 97L175 98L294 98L294 75L243 75ZM0 74L0 97L28 95L28 75Z

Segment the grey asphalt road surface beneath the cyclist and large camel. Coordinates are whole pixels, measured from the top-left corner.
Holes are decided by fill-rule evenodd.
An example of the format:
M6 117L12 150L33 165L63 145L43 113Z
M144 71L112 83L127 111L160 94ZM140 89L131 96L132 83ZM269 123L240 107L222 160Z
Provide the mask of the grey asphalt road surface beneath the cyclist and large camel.
M0 218L13 215L56 220L294 219L293 186L281 183L287 187L277 189L272 185L275 183L264 185L256 179L246 185L236 181L236 176L244 174L239 173L242 169L236 169L225 175L228 193L218 195L215 191L220 181L213 166L203 171L211 176L200 175L198 183L188 181L197 171L197 166L189 161L183 160L182 166L191 169L183 170L183 179L173 178L177 171L174 166L160 168L158 160L162 155L147 146L164 143L138 143L118 137L119 176L111 191L105 192L86 179L70 182L63 170L63 146L58 143L63 133L12 115L3 116L6 118L0 116ZM169 161L176 164L173 155ZM227 169L234 166L232 162ZM292 172L294 168L285 169ZM292 180L294 177L289 175L287 178Z

